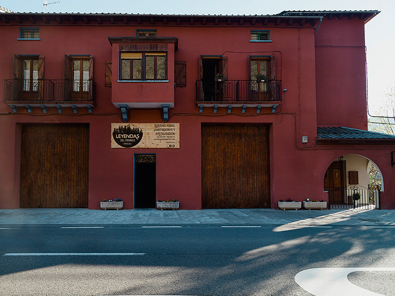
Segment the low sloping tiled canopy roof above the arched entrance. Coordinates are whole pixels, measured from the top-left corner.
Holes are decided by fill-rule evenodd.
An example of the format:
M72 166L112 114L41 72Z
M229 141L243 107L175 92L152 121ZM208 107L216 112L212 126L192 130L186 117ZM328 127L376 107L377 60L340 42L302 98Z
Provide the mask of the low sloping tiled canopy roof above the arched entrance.
M350 127L326 126L317 127L317 139L395 139L395 136Z

